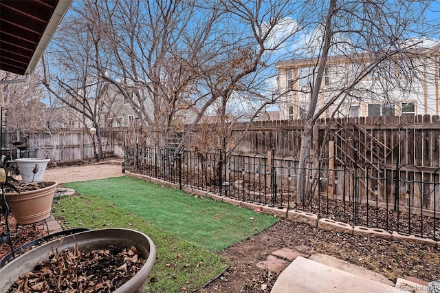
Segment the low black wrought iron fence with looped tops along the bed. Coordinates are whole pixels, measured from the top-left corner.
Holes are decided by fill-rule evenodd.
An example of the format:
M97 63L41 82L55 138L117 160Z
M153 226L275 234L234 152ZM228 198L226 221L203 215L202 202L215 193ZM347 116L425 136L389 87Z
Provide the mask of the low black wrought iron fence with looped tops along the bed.
M230 153L173 153L151 146L126 148L128 171L245 202L304 210L343 221L440 240L440 169L415 165L344 164L342 158Z

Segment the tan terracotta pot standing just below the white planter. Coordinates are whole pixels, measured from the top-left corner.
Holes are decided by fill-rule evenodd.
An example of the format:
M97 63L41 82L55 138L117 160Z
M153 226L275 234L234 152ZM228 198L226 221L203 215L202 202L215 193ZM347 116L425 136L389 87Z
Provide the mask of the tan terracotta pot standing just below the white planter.
M54 199L57 182L54 184L21 193L6 193L6 202L17 219L17 224L34 224L50 216L52 199Z

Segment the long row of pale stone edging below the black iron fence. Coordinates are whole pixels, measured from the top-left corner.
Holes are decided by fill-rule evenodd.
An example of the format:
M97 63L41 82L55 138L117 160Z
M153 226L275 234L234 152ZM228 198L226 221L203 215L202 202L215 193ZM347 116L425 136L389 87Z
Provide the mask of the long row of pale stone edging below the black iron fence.
M147 175L140 175L137 173L131 173L129 171L125 171L125 174L129 177L134 177L151 183L179 189L179 184L167 182L164 180L159 180L157 178L149 177ZM215 193L210 193L209 191L201 191L197 188L193 188L190 186L182 186L181 190L192 195L197 195L199 197L210 197L211 199L214 199L217 202L225 202L228 204L232 204L233 206L248 208L250 210L259 210L259 212L261 213L270 214L275 217L281 217L291 221L306 223L313 228L320 228L323 230L331 230L336 232L345 232L349 235L364 235L367 237L382 237L393 241L408 241L412 243L426 244L434 248L440 248L440 241L434 241L428 238L415 237L414 235L402 235L396 231L393 231L393 233L391 234L386 230L380 228L369 228L364 226L353 227L347 223L335 221L333 219L327 219L327 218L318 219L318 215L315 215L313 213L307 213L302 210L287 210L287 208L276 208L271 206L265 206L263 204L243 202L239 199L234 199L233 197L225 197Z

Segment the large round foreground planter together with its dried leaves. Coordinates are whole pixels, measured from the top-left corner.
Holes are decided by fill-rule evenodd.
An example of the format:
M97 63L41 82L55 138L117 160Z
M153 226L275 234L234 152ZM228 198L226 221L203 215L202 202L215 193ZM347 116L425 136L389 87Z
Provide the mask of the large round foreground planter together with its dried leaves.
M112 254L113 250L133 252L133 257L118 255L102 263L98 258L89 260L90 254ZM11 286L15 290L23 283L35 290L28 292L67 292L66 286L72 290L69 292L144 292L155 256L153 241L136 230L109 228L78 232L47 242L6 264L0 269L0 292L12 292L8 291ZM131 270L133 263L135 270ZM50 274L53 272L48 269L50 264L58 265L56 274ZM33 272L28 274L30 271ZM120 281L120 276L128 277ZM92 291L85 288L90 284Z

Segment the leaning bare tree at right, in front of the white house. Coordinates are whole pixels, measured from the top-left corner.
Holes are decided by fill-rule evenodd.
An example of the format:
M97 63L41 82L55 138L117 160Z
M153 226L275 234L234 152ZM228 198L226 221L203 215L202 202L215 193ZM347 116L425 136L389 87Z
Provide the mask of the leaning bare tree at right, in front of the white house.
M384 96L395 87L408 91L414 85L402 83L401 72L419 76L412 62L418 52L408 39L430 34L425 13L430 1L305 1L305 8L316 11L316 22L307 24L314 37L305 45L309 53L311 72L307 115L301 140L299 168L311 151L311 138L315 121L328 109L338 111L344 100L366 98L366 95ZM348 73L336 80L331 88L322 89L323 76L331 56L344 56L342 72ZM303 55L305 58L305 55ZM393 65L390 67L390 65ZM390 70L392 68L392 70ZM365 87L367 76L382 80ZM304 76L298 76L304 78ZM414 79L413 79L414 80ZM304 89L297 89L304 91ZM318 102L320 104L318 105ZM305 180L298 177L299 190L305 190ZM310 195L301 194L304 201Z

